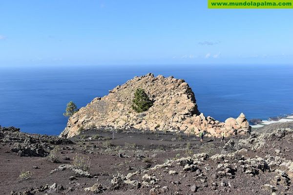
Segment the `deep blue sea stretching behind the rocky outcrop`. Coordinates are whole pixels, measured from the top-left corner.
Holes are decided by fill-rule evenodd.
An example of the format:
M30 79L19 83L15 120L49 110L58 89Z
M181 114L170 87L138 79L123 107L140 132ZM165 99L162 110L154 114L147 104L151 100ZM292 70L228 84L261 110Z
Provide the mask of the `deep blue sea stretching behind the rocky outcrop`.
M224 121L293 113L293 65L120 65L0 67L0 125L22 132L59 135L66 104L80 108L134 76L183 78L198 109Z

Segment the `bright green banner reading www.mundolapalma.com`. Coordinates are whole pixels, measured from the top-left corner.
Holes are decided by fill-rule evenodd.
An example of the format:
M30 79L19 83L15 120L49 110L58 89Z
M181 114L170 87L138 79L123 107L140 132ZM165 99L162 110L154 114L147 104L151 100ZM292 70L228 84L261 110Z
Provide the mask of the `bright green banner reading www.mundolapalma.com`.
M208 0L209 9L293 9L293 0Z

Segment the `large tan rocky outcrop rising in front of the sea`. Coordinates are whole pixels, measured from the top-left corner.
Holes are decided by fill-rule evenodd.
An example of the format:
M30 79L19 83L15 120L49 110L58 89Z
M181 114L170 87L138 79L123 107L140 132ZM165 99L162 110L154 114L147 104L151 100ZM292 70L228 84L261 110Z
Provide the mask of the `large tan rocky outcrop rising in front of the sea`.
M144 113L136 113L131 105L134 92L142 88L154 102ZM198 134L207 131L209 136L219 136L222 131L234 133L235 129L248 129L243 114L236 121L238 125L220 123L212 117L205 117L197 109L194 93L183 79L154 77L135 77L123 85L118 85L103 98L95 98L69 118L67 127L60 137L73 137L79 129L94 126L111 126L118 129L180 130ZM246 123L245 123L246 121ZM234 123L233 123L234 124ZM232 132L233 130L233 132Z

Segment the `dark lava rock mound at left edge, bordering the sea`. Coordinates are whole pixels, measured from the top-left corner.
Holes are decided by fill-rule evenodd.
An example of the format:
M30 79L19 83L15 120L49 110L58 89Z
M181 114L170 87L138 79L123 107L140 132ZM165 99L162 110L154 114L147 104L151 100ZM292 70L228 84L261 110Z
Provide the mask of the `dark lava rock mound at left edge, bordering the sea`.
M71 140L56 136L46 136L39 134L27 134L20 132L19 128L1 127L0 142L11 145L11 152L18 156L47 156L52 149L52 144L71 144ZM7 152L10 152L7 151Z

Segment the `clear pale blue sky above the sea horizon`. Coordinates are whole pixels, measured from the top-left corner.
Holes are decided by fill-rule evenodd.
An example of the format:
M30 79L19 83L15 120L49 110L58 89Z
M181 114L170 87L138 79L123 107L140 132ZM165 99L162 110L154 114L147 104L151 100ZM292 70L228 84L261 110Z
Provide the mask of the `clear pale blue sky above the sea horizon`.
M6 0L0 66L290 64L293 11L207 0Z

